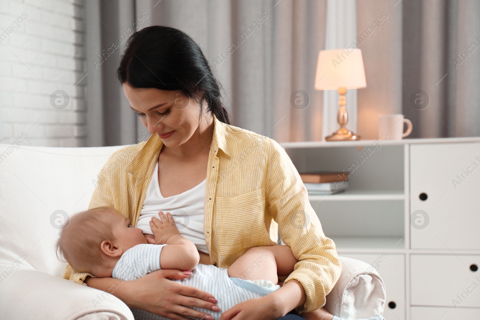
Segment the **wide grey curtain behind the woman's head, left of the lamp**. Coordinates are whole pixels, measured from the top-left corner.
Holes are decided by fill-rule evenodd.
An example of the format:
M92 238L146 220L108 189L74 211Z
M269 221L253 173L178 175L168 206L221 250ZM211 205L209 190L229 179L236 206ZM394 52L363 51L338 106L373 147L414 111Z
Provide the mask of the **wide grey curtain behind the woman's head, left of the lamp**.
M223 85L234 125L279 142L322 139L323 94L313 84L325 42L323 1L88 0L85 5L87 145L132 144L146 137L115 75L123 37L134 23L176 27L199 43ZM233 52L228 50L234 44Z

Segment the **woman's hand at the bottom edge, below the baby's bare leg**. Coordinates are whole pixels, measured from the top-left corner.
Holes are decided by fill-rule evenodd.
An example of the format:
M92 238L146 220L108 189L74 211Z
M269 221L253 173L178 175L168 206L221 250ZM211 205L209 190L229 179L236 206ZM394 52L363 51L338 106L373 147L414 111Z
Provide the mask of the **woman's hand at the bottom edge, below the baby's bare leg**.
M270 295L241 302L224 311L220 320L274 320L285 316L287 313L278 308Z

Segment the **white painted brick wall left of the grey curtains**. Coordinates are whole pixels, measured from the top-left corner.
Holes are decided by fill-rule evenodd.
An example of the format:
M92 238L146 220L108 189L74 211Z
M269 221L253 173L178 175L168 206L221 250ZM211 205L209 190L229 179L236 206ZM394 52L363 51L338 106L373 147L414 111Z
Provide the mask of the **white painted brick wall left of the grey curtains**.
M85 146L84 10L80 0L0 0L0 143L26 132L23 145ZM70 96L65 109L50 104L56 90Z

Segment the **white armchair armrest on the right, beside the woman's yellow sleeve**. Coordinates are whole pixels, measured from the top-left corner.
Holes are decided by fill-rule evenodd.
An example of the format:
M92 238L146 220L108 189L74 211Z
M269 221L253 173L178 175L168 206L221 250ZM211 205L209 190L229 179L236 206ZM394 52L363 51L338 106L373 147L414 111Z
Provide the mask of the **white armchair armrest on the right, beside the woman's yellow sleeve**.
M342 273L326 296L325 310L346 320L382 315L386 299L385 285L377 271L360 260L339 259Z

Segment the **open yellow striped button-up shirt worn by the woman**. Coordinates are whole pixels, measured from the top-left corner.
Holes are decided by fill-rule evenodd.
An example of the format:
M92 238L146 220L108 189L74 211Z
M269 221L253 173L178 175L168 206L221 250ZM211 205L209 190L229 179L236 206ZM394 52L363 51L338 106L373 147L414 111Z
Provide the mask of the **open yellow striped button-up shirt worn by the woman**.
M112 206L136 225L162 147L157 134L114 152L98 174L88 206ZM307 190L288 154L275 141L227 125L214 116L204 200L204 234L211 263L228 268L252 247L283 242L299 262L295 279L306 293L299 312L324 306L341 271L334 242L325 237ZM79 284L90 273L67 265L64 278Z

